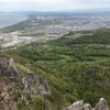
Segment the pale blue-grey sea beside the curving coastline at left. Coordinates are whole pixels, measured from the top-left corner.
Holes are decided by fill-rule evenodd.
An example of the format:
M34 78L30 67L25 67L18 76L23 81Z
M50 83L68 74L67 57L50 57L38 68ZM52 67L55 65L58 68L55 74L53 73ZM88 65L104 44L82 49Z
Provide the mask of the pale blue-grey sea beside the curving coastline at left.
M16 13L0 13L0 29L16 24L26 20L28 16Z

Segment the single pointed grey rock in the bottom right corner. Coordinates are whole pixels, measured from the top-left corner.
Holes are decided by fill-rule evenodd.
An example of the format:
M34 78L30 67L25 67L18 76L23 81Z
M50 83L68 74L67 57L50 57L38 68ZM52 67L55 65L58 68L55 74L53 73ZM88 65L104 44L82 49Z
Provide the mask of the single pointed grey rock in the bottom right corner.
M99 100L99 102L95 107L95 110L109 110L109 107L105 98L101 98Z

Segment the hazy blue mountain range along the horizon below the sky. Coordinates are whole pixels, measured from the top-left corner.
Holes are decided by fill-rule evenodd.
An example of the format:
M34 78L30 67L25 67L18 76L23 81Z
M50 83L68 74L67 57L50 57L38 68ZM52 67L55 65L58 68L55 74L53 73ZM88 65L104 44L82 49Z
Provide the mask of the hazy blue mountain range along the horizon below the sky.
M0 13L20 13L20 14L38 14L38 15L56 15L56 14L105 14L110 13L110 9L87 9L87 10L61 10L61 11L11 11L11 12L3 12Z

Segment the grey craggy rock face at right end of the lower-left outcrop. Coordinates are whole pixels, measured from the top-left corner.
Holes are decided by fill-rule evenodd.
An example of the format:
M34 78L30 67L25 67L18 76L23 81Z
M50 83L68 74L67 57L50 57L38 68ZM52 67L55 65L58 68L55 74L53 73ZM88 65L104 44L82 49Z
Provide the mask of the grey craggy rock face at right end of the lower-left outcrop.
M47 95L51 95L47 81L37 75L28 74L22 78L22 84L24 85L24 91L30 92L31 96L38 94L45 99Z

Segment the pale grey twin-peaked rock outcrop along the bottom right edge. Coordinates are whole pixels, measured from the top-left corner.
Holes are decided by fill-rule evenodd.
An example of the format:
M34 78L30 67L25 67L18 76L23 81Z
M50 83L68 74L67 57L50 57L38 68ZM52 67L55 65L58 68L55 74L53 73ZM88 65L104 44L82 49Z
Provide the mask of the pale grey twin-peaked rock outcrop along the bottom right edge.
M84 103L84 101L76 101L72 106L63 110L109 110L107 101L105 98L101 98L95 108L91 108L89 103Z

